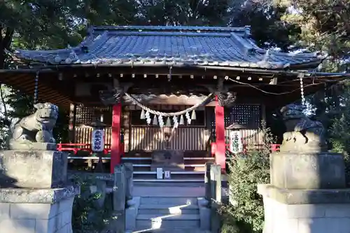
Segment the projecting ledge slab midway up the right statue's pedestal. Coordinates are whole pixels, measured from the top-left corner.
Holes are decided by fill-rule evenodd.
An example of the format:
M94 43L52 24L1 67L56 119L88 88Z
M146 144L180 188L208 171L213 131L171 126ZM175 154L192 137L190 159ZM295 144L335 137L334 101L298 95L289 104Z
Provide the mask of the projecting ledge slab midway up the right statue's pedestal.
M350 189L292 190L258 185L258 193L283 204L350 204Z

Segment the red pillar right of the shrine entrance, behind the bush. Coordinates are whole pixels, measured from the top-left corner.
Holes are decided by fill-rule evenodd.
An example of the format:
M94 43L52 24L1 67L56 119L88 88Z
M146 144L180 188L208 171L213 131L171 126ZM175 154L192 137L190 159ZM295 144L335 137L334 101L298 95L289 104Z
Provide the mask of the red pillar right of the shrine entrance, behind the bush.
M224 107L218 104L218 97L216 96L215 105L215 130L216 130L216 152L215 162L221 166L225 171L226 155L225 155L225 111Z

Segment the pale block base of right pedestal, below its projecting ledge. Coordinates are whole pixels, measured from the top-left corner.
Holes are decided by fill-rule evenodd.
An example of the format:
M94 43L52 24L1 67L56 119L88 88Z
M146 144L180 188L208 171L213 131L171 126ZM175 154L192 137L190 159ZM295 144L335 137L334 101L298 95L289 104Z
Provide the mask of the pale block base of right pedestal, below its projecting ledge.
M348 203L281 203L268 194L269 192L263 195L264 233L349 233L350 204Z

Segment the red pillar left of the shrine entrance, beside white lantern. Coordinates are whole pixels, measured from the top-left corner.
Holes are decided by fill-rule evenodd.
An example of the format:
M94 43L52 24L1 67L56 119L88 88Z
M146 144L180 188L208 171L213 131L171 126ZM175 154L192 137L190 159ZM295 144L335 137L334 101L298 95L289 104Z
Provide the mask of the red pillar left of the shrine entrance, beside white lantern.
M112 111L112 137L111 137L111 174L114 167L121 162L120 155L120 118L122 115L122 104L114 104Z

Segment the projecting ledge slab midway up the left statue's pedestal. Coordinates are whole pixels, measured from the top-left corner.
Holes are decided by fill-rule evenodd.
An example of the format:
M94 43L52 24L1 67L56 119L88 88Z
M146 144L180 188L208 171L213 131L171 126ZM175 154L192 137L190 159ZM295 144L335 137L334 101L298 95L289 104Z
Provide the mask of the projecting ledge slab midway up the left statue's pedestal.
M51 203L74 197L78 186L69 185L54 189L0 188L0 203Z

